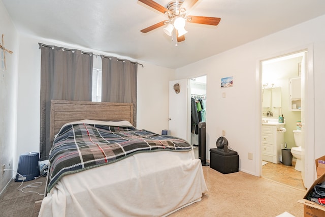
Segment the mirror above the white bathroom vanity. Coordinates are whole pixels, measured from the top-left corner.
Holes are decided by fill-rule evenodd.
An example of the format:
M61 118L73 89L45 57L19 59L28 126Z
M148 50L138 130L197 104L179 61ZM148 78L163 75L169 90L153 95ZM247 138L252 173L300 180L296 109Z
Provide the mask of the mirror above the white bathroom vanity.
M281 109L281 87L262 89L262 107L264 113Z

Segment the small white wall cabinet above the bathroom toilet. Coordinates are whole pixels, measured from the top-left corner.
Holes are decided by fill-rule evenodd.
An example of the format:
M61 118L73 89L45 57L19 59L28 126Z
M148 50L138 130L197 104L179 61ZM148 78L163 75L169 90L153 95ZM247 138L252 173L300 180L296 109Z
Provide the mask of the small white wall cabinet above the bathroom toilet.
M291 111L301 111L301 78L290 78Z

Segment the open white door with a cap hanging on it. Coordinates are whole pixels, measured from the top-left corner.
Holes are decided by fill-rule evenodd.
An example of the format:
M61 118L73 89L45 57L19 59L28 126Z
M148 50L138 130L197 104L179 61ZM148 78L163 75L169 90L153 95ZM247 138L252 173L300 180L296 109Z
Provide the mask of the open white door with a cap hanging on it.
M169 124L172 136L188 141L187 114L188 114L188 83L187 79L169 82ZM174 90L174 85L179 84L179 93Z

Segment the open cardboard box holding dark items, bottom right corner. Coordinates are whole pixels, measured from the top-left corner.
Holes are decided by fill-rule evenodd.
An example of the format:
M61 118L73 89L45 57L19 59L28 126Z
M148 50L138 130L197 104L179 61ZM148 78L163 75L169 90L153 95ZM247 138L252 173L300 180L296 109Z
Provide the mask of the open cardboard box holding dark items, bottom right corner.
M323 217L325 216L325 206L319 205L318 203L307 200L310 192L314 191L314 186L325 181L325 174L322 174L316 181L311 185L310 189L307 191L304 199L299 200L299 203L304 204L304 216L313 217Z

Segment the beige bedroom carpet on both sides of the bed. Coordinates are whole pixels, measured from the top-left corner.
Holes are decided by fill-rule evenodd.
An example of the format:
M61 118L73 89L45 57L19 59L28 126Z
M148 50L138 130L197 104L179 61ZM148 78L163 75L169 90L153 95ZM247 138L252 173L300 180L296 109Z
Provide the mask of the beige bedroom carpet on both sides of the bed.
M202 201L187 206L170 216L277 216L285 211L303 216L302 199L306 191L287 187L243 172L222 174L203 167L209 189ZM38 181L45 183L45 177ZM30 184L34 181L25 182ZM0 197L0 216L37 216L35 201L43 196L17 191L20 182L12 181ZM33 189L44 193L45 185ZM28 189L26 191L29 191Z

